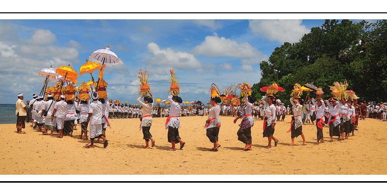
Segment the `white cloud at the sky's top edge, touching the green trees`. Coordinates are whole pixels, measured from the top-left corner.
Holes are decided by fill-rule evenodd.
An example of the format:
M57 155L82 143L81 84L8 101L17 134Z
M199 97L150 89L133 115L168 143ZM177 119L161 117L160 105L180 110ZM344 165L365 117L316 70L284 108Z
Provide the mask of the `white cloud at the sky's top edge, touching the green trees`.
M302 20L250 20L249 28L256 36L280 43L296 42L310 32Z

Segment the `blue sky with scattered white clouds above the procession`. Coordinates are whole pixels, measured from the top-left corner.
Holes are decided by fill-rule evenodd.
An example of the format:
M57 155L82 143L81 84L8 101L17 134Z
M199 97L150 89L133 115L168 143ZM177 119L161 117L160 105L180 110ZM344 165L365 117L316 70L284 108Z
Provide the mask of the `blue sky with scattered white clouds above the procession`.
M39 70L71 65L78 73L89 55L107 45L123 62L107 66L109 99L135 102L138 69L151 71L155 98L166 99L174 67L184 101L209 100L212 83L259 82L259 63L275 47L296 42L324 20L0 20L0 103L18 93L32 99ZM97 72L94 77L97 78ZM77 80L89 80L83 74ZM80 84L79 82L79 84ZM54 83L50 83L50 86Z

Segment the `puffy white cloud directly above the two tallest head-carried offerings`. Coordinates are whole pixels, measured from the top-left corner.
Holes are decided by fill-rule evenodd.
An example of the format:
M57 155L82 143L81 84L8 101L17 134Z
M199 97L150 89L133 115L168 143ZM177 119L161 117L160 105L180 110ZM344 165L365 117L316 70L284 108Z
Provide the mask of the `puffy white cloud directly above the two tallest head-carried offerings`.
M187 52L175 52L171 48L160 49L154 42L149 43L147 49L152 54L146 61L149 65L173 66L180 70L198 69L202 66L193 54Z

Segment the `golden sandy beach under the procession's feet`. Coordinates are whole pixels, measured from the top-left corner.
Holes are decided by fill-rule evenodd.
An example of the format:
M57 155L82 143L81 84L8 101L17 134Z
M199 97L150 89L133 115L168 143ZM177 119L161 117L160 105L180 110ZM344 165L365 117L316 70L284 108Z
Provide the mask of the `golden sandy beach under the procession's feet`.
M63 139L41 135L26 123L27 134L17 134L15 124L0 124L0 174L2 175L84 175L84 174L150 174L150 175L207 175L207 174L318 174L318 175L379 175L387 174L387 122L366 118L359 121L359 130L349 140L328 143L329 129L324 126L325 143L314 145L316 127L303 126L307 146L291 143L290 116L277 122L274 136L277 147L265 149L268 139L262 136L263 121L255 120L252 127L253 150L243 151L244 144L237 140L238 124L233 117L221 117L218 152L210 152L213 144L205 135L204 117L180 117L179 128L183 150L167 151L166 118L153 118L151 133L155 147L142 149L145 141L136 119L111 119L107 129L109 146L96 143L94 149L85 149L90 140L79 139L80 126L74 136ZM15 121L16 122L16 121ZM240 122L240 120L238 120ZM337 140L337 137L335 138ZM274 142L272 142L274 146ZM176 148L180 145L177 144Z

